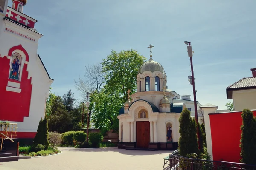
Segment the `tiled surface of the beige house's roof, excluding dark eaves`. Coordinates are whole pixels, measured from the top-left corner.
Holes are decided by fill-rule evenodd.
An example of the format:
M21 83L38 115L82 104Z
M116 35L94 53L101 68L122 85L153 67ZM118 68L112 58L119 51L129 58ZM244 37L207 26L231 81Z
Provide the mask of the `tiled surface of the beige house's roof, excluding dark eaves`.
M238 82L235 82L233 85L228 86L227 89L247 87L256 87L256 77L242 78Z

